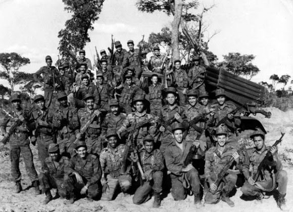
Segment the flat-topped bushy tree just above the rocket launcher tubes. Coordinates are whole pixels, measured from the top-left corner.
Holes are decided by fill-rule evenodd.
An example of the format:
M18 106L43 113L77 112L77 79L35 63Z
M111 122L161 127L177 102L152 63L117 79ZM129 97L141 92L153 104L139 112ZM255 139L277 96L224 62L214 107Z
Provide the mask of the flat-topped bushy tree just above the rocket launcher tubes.
M240 53L228 53L223 55L224 61L218 63L218 68L229 71L237 76L243 76L251 80L260 69L251 63L254 55L241 55Z

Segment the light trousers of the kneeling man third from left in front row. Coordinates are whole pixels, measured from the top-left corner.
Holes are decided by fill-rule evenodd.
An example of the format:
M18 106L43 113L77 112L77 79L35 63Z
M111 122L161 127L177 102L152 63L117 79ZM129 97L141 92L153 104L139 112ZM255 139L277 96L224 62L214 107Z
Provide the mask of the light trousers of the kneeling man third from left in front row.
M107 184L109 188L106 190L105 193L102 194L101 200L104 200L104 201L113 200L114 193L116 192L118 186L120 186L121 191L123 193L126 193L132 185L131 180L132 179L130 175L121 175L118 178L114 178L108 175Z

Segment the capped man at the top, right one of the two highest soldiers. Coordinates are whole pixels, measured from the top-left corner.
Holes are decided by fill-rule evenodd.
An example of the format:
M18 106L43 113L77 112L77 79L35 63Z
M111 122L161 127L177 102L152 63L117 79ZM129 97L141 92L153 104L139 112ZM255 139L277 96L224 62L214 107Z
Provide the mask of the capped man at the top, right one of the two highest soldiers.
M134 49L134 43L133 40L127 41L127 46L129 48L129 51L126 53L123 61L123 66L128 67L131 66L134 68L133 73L135 74L135 77L140 78L141 76L141 55L139 49Z

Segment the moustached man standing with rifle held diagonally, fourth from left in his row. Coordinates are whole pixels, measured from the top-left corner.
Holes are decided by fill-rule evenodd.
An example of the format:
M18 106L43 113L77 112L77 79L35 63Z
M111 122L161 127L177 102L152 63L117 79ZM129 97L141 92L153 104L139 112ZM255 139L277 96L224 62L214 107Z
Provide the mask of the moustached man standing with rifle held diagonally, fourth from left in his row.
M92 116L96 117L93 118L93 121L87 128L85 136L78 132L76 138L85 140L88 153L100 155L102 151L102 141L98 138L101 134L101 112L94 109L94 97L92 95L87 94L84 97L84 103L85 108L81 108L77 111L80 129L83 128Z

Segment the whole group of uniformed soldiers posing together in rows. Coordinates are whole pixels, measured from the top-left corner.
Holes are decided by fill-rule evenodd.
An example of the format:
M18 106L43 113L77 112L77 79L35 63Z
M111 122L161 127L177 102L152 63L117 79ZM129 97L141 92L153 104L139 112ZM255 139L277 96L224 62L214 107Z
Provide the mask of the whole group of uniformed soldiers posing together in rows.
M51 189L56 188L56 198L65 198L65 204L82 197L109 201L122 192L134 193L134 204L154 196L153 206L159 207L162 192L171 191L175 201L193 195L197 208L220 200L234 206L230 193L242 179L243 195L256 197L256 202L278 188L277 205L286 210L287 174L277 148L266 146L265 133L256 130L250 137L255 146L238 151L241 114L231 113L235 105L223 89L215 91L212 104L200 57L194 57L188 71L175 60L166 88L159 82L166 71L160 49L155 47L145 64L144 52L134 49L132 40L127 45L129 51L115 42L113 57L120 75L114 73L105 50L101 66L93 70L83 50L74 68L64 61L58 70L47 56L47 65L34 75L44 96L34 97L32 109L22 107L19 95L11 97L12 110L0 124L4 138L9 138L16 193L22 191L21 153L35 193L45 194L44 204L53 200ZM147 90L141 87L142 70L152 72ZM225 122L218 124L223 118ZM9 122L13 131L6 130ZM30 143L37 145L39 175ZM192 148L194 154L186 163ZM276 165L264 170L263 179L254 179L267 152ZM229 169L219 179L227 164Z

